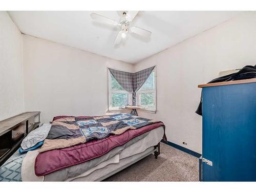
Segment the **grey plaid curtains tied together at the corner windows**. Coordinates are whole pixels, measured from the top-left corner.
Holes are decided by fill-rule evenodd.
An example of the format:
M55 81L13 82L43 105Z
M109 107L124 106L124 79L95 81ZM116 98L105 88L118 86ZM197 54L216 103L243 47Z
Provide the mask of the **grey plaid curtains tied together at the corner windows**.
M109 70L113 77L120 84L120 86L127 92L132 93L132 103L133 105L136 105L136 93L143 86L144 82L146 81L148 76L150 76L151 72L154 70L155 67L156 66L153 66L151 68L147 68L136 73L117 71L110 68ZM132 110L131 114L138 116L136 110Z

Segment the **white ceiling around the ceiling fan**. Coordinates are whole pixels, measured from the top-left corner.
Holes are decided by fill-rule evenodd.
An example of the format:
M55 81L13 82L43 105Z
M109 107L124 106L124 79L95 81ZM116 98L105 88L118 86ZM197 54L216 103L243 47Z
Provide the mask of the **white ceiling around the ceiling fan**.
M119 28L94 22L92 12L119 20L117 11L9 11L19 30L28 35L130 63L219 25L239 11L140 11L133 25L152 31L150 38L129 34L118 46Z

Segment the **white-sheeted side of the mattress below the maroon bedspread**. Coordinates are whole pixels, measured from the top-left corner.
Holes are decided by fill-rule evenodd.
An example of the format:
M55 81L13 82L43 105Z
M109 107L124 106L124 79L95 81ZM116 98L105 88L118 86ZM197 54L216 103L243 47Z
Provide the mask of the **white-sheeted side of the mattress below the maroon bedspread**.
M83 181L98 181L102 180L102 178L105 179L106 176L114 174L116 170L124 167L125 165L129 165L130 163L143 158L145 154L148 155L152 153L154 151L154 146L161 141L164 135L164 128L163 126L160 126L144 134L145 137L137 140L129 146L124 147L123 150L121 150L121 153L115 154L114 148L108 152L108 154L105 154L106 157L109 158L104 157L104 161L99 161L102 157L98 157L86 163L73 165L71 167L67 167L51 174L39 177L35 175L34 169L34 162L38 151L30 151L27 153L22 163L22 180L73 181L80 180L79 178L82 178L81 180ZM96 161L97 163L95 164L93 161ZM88 165L90 164L93 166L89 166L88 168ZM83 173L80 173L81 170L83 170Z

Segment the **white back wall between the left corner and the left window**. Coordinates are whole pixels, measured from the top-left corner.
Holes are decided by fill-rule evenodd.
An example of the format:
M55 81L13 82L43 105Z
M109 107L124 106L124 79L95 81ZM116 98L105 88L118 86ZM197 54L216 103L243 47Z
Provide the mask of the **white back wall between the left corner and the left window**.
M28 35L24 42L25 110L56 115L102 115L108 108L107 67L133 65Z

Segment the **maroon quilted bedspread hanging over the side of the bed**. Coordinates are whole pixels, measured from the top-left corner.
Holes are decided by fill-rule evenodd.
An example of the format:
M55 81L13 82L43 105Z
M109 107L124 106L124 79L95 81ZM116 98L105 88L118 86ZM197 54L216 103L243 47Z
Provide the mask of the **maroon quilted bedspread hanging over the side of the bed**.
M126 131L121 135L111 135L108 138L91 140L72 147L39 153L35 160L35 175L44 176L56 170L100 157L111 151L114 147L121 146L134 137L156 129L159 126L164 126L164 124L157 122L140 129ZM165 135L163 139L166 139Z

